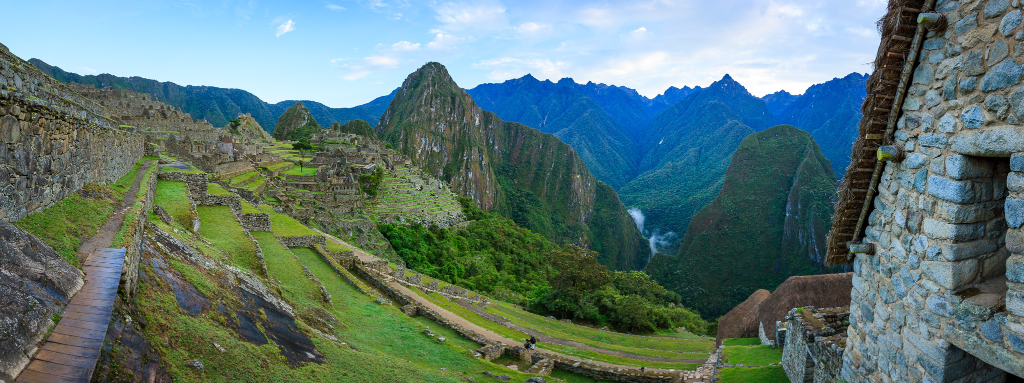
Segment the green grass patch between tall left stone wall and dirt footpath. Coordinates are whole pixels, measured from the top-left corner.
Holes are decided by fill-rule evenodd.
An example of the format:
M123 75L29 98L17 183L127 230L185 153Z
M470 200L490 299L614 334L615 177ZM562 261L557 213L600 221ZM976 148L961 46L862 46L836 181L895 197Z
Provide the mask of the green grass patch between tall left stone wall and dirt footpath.
M76 251L82 238L96 234L114 212L114 205L120 203L110 188L89 184L82 191L72 193L57 204L26 217L15 225L42 239L68 262L78 266L80 260Z

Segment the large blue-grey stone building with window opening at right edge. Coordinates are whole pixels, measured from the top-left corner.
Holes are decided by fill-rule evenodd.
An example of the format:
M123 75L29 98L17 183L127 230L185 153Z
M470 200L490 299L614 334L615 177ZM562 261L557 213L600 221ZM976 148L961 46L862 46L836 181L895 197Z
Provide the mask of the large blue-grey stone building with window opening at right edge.
M910 3L893 0L890 8L916 16L914 8L927 11L935 1ZM918 64L898 82L897 92L905 93L876 96L884 85L897 84L892 79L900 79L899 67L890 80L869 80L866 123L854 148L873 155L879 145L871 143L884 141L879 158L889 160L876 171L877 184L859 178L860 186L840 191L847 199L865 192L868 201L863 244L861 234L845 232L850 226L834 221L841 227L833 237L854 238L850 250L834 248L835 242L829 248L833 264L851 261L854 271L842 370L849 382L1002 382L1011 377L1007 373L1024 376L1021 3L940 0L934 10L945 22L925 15L910 18L922 27L902 27L905 18L887 16L880 57L907 57L911 65L916 58ZM886 34L900 29L909 31L900 37L905 40ZM911 38L909 49L891 49L896 40L909 45ZM886 99L897 100L894 110ZM891 136L868 133L865 124L874 124L868 118L874 111L899 116ZM880 121L877 132L884 132L886 121ZM854 157L851 169L873 167ZM858 182L851 178L845 183ZM855 223L861 210L853 207L841 203L837 216L853 211L848 222Z

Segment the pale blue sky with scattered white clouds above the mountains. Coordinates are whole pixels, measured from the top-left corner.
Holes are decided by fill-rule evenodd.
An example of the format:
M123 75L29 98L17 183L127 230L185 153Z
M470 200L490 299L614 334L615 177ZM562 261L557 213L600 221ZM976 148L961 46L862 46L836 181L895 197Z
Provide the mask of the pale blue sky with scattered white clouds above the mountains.
M80 75L348 107L423 63L463 88L531 74L654 97L729 74L755 96L869 73L885 0L5 1L0 43Z

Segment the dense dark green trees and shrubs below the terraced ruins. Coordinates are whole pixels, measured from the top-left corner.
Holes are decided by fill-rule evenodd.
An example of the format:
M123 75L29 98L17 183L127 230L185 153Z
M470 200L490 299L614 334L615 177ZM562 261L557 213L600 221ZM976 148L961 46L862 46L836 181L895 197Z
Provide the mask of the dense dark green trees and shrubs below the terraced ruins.
M501 216L460 200L462 228L380 225L406 265L427 276L545 315L649 333L686 326L703 333L707 323L678 305L678 294L643 272L612 272L597 253L558 245Z

